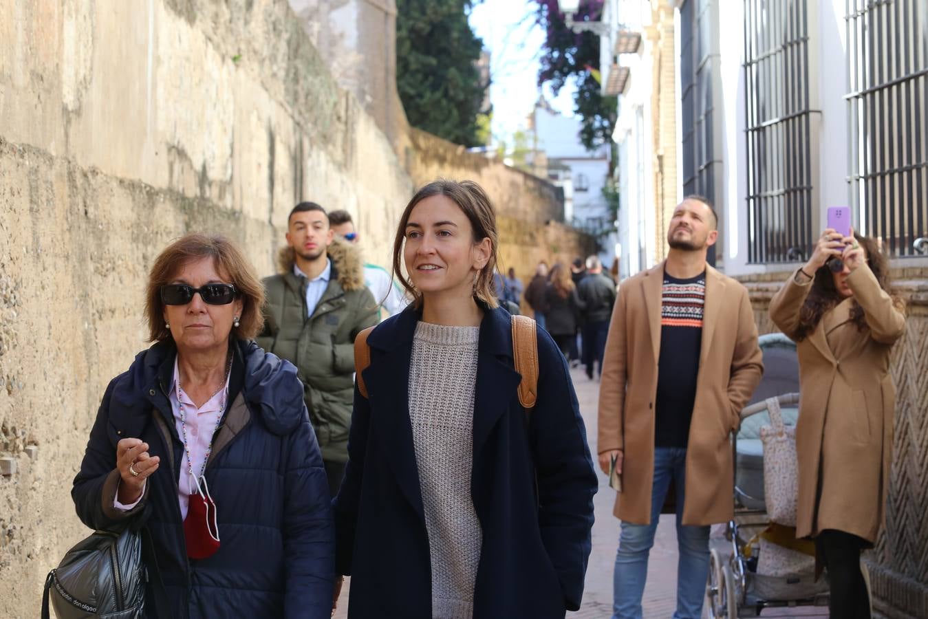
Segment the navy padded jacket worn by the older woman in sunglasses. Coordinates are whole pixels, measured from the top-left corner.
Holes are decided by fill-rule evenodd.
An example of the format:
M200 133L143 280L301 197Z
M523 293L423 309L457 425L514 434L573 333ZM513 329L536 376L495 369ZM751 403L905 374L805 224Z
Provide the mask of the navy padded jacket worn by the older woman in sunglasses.
M165 594L157 609L147 607L149 616L328 618L334 530L303 386L290 363L253 342L231 345L229 404L205 473L219 550L208 559L187 559L177 503L187 460L167 397L173 342L140 353L110 382L71 490L77 514L93 529L147 526ZM161 457L129 512L112 507L116 444L126 437L142 439Z

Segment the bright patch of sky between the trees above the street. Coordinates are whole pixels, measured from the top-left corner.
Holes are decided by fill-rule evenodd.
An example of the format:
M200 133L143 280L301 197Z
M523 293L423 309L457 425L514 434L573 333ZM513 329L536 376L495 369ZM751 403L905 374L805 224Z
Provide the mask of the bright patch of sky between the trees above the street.
M490 51L490 102L493 135L507 140L524 129L538 100L538 57L545 43L544 30L535 23L537 4L531 0L483 0L470 11L470 28ZM554 97L545 97L555 110L574 115L574 87L567 84Z

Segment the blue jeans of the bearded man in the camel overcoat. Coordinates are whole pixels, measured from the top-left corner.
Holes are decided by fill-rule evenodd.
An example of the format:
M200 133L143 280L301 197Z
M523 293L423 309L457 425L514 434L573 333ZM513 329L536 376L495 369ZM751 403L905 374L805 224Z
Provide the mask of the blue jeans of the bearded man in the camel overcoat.
M619 550L612 576L612 619L641 619L641 598L648 577L648 553L661 517L670 481L677 484L677 612L674 619L699 619L705 581L709 576L709 527L685 526L683 519L687 450L654 449L654 483L651 486L651 524L622 522Z

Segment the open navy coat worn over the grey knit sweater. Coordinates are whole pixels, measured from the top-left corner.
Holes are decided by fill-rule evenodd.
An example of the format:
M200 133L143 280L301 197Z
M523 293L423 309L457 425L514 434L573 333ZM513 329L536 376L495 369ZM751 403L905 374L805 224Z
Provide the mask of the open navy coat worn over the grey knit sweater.
M483 309L470 478L483 547L473 616L561 618L580 606L590 552L597 478L586 429L563 356L544 329L538 400L526 424L509 313ZM352 577L352 619L432 616L407 393L420 317L407 307L371 332L368 398L354 389L348 466L334 501L337 568Z

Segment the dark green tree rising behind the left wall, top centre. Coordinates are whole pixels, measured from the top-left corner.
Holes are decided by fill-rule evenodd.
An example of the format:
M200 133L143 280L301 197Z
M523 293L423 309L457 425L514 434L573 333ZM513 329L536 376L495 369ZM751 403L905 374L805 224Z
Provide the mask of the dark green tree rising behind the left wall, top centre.
M479 1L479 0L478 0ZM476 62L483 41L470 30L473 0L397 0L396 87L414 127L467 147L485 144Z

